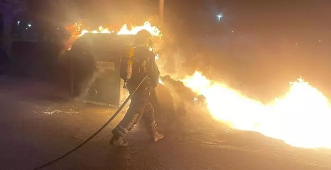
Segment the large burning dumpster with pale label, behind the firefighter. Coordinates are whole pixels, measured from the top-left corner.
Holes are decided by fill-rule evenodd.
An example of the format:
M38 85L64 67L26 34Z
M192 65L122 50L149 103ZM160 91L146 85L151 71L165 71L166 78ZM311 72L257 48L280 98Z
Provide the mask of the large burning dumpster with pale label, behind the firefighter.
M71 91L83 102L118 107L123 80L121 48L134 35L86 33L69 50Z

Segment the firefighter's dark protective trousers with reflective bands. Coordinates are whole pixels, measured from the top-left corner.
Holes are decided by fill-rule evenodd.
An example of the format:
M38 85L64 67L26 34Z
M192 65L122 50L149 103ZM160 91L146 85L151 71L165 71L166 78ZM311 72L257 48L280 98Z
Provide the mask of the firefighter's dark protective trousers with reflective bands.
M133 125L139 121L140 117L143 119L149 135L153 135L156 132L157 124L154 119L154 108L149 100L151 88L145 86L141 84L132 95L131 103L125 116L112 130L114 138L124 138L127 132L133 128ZM131 94L134 88L128 84L128 90Z

